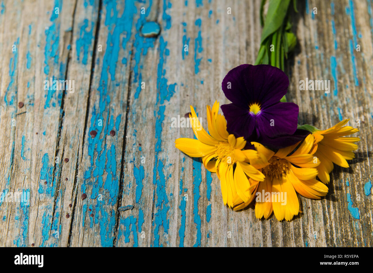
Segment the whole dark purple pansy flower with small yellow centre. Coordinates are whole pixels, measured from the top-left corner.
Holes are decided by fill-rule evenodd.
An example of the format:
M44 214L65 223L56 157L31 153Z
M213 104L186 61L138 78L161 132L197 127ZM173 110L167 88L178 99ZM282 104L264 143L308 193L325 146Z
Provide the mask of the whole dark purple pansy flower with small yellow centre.
M228 132L270 148L283 148L303 140L309 132L297 130L298 105L280 102L289 80L271 65L240 65L225 76L222 88L232 101L221 106Z

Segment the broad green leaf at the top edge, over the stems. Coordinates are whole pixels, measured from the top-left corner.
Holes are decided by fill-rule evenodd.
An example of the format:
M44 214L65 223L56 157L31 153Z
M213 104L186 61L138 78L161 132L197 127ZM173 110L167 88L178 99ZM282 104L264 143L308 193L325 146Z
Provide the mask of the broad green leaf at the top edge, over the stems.
M270 0L266 20L264 21L263 32L261 34L261 43L282 26L288 11L289 3L290 0Z

